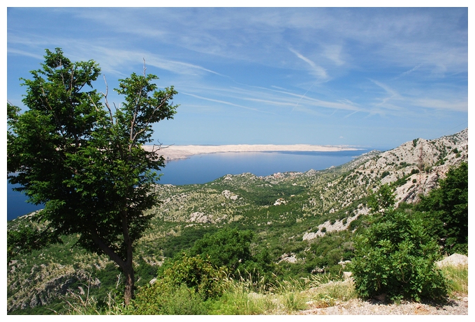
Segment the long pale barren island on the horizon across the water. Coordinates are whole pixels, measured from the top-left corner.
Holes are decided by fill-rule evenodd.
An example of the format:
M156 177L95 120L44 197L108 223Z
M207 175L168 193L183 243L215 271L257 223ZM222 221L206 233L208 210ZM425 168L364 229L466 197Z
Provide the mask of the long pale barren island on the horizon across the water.
M154 146L145 145L146 151L152 151ZM155 146L157 148L157 146ZM220 153L220 152L282 152L282 151L305 151L305 152L337 152L337 151L358 151L360 148L350 146L318 146L312 144L232 144L222 146L161 146L159 151L165 160L186 159L191 155Z

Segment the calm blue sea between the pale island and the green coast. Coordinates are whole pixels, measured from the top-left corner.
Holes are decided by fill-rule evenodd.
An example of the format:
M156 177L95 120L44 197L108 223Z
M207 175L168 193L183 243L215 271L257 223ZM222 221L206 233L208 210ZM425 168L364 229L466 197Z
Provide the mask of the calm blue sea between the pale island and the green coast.
M305 172L338 166L367 153L369 150L338 152L228 152L193 155L191 158L170 160L160 171L159 184L191 185L214 181L226 174L250 172L269 176L277 172ZM27 203L27 197L13 191L7 182L7 220L13 220L42 205Z

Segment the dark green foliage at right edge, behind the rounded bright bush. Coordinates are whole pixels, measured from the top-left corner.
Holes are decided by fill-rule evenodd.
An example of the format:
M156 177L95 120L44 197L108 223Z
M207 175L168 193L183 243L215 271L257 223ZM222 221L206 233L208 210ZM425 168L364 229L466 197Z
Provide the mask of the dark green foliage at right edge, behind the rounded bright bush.
M448 254L468 254L468 197L468 164L462 163L450 169L439 188L422 196L417 206Z

